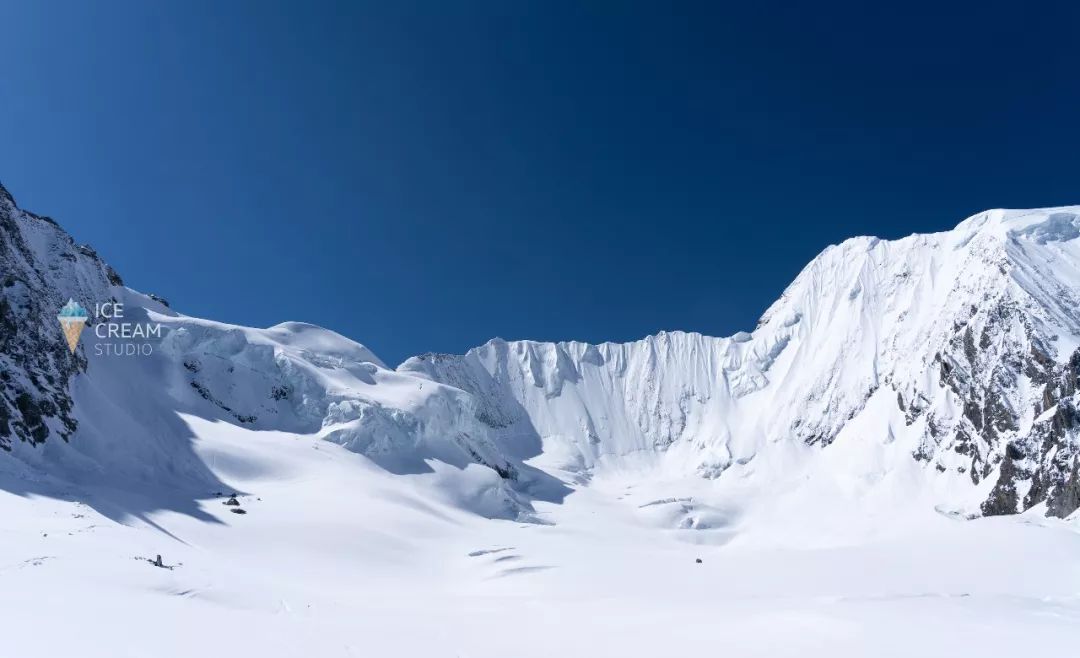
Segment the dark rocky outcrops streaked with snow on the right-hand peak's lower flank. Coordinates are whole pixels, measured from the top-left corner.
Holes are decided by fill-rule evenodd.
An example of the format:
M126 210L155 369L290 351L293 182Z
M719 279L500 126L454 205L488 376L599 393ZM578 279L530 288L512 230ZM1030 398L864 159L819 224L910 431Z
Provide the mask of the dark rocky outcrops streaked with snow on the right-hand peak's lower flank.
M973 484L995 478L982 505L986 515L1045 503L1048 515L1064 518L1080 509L1080 350L1056 353L1056 337L1048 339L1029 310L1002 295L972 307L953 327L933 362L959 418L944 428L930 418L914 456L944 472L943 454L958 455L968 465L955 468ZM1032 385L1042 389L1034 403L1024 392ZM914 405L903 398L897 404L908 424L917 418Z

